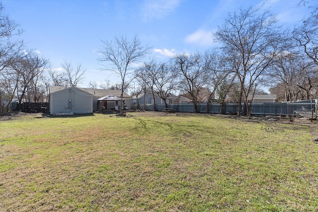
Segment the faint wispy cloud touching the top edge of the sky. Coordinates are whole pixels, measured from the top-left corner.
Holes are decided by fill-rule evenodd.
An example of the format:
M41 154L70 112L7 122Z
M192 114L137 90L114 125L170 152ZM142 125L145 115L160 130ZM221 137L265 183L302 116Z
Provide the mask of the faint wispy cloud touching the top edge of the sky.
M180 0L145 0L143 13L145 20L152 18L162 18L174 11Z

